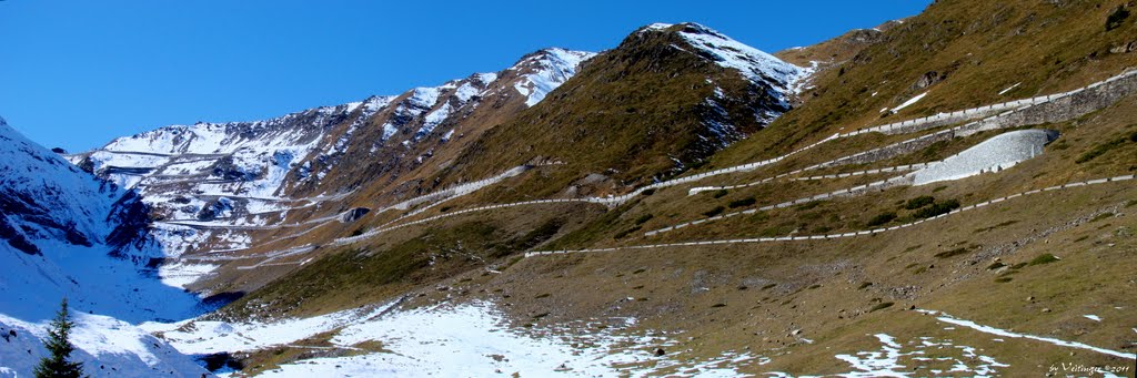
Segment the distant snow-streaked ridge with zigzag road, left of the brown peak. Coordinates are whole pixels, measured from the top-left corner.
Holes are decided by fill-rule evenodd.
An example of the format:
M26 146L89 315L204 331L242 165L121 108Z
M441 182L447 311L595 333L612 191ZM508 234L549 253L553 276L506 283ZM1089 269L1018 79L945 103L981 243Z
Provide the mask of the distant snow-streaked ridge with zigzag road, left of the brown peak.
M498 73L400 95L258 121L166 126L69 159L142 194L165 255L239 250L251 244L251 230L337 216L341 210L323 204L374 176L412 171L440 145L480 132L467 118L537 104L592 56L545 49ZM381 168L362 173L370 167L341 165L345 159Z

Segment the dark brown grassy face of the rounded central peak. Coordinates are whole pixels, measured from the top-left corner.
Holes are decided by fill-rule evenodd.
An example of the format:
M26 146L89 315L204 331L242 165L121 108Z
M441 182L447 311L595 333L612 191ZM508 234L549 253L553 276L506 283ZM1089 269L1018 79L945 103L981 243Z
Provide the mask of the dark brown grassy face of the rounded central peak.
M546 157L566 166L520 191L554 194L591 173L649 183L675 167L671 158L691 165L729 142L702 125L716 85L733 99L723 101L729 124L744 135L762 126L753 107L769 102L764 91L674 45L686 45L674 33L633 33L530 111L488 132L458 157L455 170L488 176Z

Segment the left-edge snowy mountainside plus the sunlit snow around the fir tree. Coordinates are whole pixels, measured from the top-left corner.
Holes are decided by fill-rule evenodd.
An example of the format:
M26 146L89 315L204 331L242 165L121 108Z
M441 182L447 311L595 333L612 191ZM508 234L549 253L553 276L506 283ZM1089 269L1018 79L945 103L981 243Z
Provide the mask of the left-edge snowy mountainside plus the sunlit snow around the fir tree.
M40 342L47 320L65 296L81 312L76 358L91 361L93 376L204 372L123 321L182 319L205 310L194 295L153 275L157 261L150 257L160 251L134 238L134 217L146 216L136 211L136 195L80 170L3 119L0 160L0 376L31 375L47 353Z

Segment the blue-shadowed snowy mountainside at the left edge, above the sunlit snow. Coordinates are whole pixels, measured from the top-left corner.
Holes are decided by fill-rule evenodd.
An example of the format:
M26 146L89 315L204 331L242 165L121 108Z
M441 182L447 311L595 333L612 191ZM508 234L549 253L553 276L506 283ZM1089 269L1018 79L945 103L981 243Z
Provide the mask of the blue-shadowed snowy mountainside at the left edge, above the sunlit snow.
M119 212L130 193L2 123L0 159L0 266L14 272L0 275L0 312L47 319L65 295L78 310L127 320L194 312L193 295L147 277L152 261L138 258L157 253L150 243L108 243L116 229L128 234L135 225Z

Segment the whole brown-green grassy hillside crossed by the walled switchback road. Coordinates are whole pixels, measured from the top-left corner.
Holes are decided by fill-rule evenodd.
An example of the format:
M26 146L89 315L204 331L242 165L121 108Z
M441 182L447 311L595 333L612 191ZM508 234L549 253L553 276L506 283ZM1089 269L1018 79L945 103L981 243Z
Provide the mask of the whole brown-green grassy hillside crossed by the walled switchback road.
M937 2L927 12L886 32L886 41L858 53L844 66L844 74L839 69L824 72L815 79L819 96L787 114L767 129L716 154L711 166L729 166L774 156L802 141L823 137L835 132L838 125L856 127L1067 90L1137 64L1137 53L1107 52L1109 48L1135 35L1134 22L1130 19L1123 26L1105 32L1105 15L1115 7L1115 2L1095 5ZM926 45L924 41L935 42ZM605 65L594 62L584 70L592 75L582 74L582 77L606 77L598 73L605 68ZM910 86L916 77L930 70L946 72L947 78L932 85L930 94L921 102L898 116L879 120L877 109L896 106L922 92ZM652 69L646 72L652 73ZM679 81L682 79L680 76ZM1022 84L1015 90L997 95L1002 89L1019 82ZM528 112L532 118L523 116L522 119L566 128L572 127L567 125L594 119L619 121L628 116L586 109L600 106L620 108L622 103L616 101L636 101L639 99L636 93L650 90L653 83L570 82L563 91L549 98L551 101L547 100ZM604 89L597 90L599 92L612 93L612 98L597 103L578 103L580 107L573 109L582 110L580 115L555 106L580 101L581 93L592 93L581 92L591 85ZM871 92L879 93L869 96ZM656 109L644 108L646 104L639 102L636 104L637 109ZM648 104L667 109L666 103ZM1137 142L1130 140L1130 135L1137 132L1137 126L1134 126L1137 111L1132 109L1137 109L1137 98L1130 95L1109 109L1045 125L1061 131L1063 136L1047 146L1041 157L998 175L943 185L893 188L860 198L827 201L808 209L795 208L762 217L735 218L652 241L753 237L794 229L804 234L821 232L821 228L835 232L863 229L865 222L880 212L896 211L903 218L911 211L898 209L899 204L920 195L956 199L969 204L1065 182L1131 174L1137 170ZM533 154L557 157L572 167L541 170L528 180L511 182L503 188L456 201L453 205L460 209L484 201L554 193L581 173L595 171L614 161L655 169L666 167L664 161L637 158L639 154L629 158L629 151L642 150L625 149L619 143L596 156L579 150L553 149L567 141L564 138L572 137L579 137L575 140L579 143L600 145L605 141L628 143L645 137L636 133L621 134L626 132L624 128L595 135L538 134L537 129L515 128L509 133L517 133L511 137L532 141L532 149L538 151ZM507 140L504 135L499 135L501 141ZM881 162L880 166L939 158L985 136L953 141L939 146L938 152L918 152ZM699 185L754 180L890 141L890 137L869 136L847 145L827 145L816 154ZM489 173L493 168L500 169L529 159L529 146L522 148L526 149L525 152L507 149L503 150L506 153L500 158L465 163L470 165L470 171L483 169ZM482 149L497 151L489 149L489 144ZM1077 162L1088 154L1095 157ZM858 168L848 167L847 170ZM629 173L629 179L637 177L630 170L621 171ZM296 314L326 312L413 289L423 296L413 301L412 305L451 297L491 299L508 304L506 309L520 322L634 316L642 319L640 325L645 328L682 330L683 336L694 337L680 346L690 348L691 353L709 356L727 350L748 348L773 358L770 366L762 367L763 370L795 373L838 372L843 363L835 360L833 354L879 348L873 338L865 336L875 333L888 333L902 342L918 336L951 338L958 344L981 347L985 354L994 354L996 360L1011 363L1011 373L1018 375L1041 373L1037 369L1063 361L1085 364L1123 362L1037 342L997 343L990 336L974 331L945 330L945 325L930 317L904 310L913 305L943 310L1015 331L1112 350L1128 347L1132 343L1128 327L1137 322L1137 318L1131 311L1114 309L1137 306L1137 302L1126 295L1132 291L1132 283L1119 280L1119 277L1127 277L1137 268L1137 260L1134 259L1134 251L1137 251L1134 228L1137 224L1132 217L1137 211L1137 205L1132 204L1137 192L1128 184L1015 199L873 237L595 253L520 261L500 257L492 260L495 255L524 250L521 244L587 247L642 243L645 240L638 233L623 232L636 227L647 230L675 220L698 218L708 209L744 198L755 198L758 204L766 204L875 178L881 177L775 184L731 191L720 199L711 194L689 198L687 186L671 187L604 215L595 208L582 210L566 205L451 218L421 229L392 233L383 241L365 246L374 253L370 258L374 261L365 262L374 263L373 269L358 272L345 269L351 266L345 261L358 262L352 260L357 259L355 252L334 252L331 258L234 304L230 311L250 301L292 299L302 294L299 288L315 292L309 293L312 297L307 303L292 308L291 313ZM549 217L570 211L581 212L564 218L573 219L565 221L572 227L562 227L551 237L541 237L542 241L549 240L545 242L549 244L503 242L525 240L525 235L540 229L539 226L546 224ZM1102 212L1123 216L1096 216ZM641 221L648 213L653 217ZM490 230L489 234L463 232L470 229ZM620 234L624 234L623 237L615 237ZM485 235L495 236L487 238ZM485 263L504 269L503 274L485 275L481 269L484 263L462 261L445 264L445 274L408 274L395 280L368 274L421 263L423 253L454 247L459 241L470 243L464 245L475 245L476 255L490 258ZM398 251L406 253L399 255ZM1062 260L1024 266L1009 272L988 269L996 258L1001 263L1014 266L1046 253L1059 255ZM329 275L342 277L326 278ZM342 286L345 284L347 286ZM445 285L449 289L438 292L435 285ZM350 297L357 295L357 288L365 288L364 294ZM621 301L626 297L636 300ZM882 303L894 304L872 311ZM1048 311L1043 312L1043 309ZM534 314L545 313L548 316L533 319ZM1098 324L1081 318L1081 314L1089 313L1098 314L1105 321ZM791 333L795 329L803 331L795 336ZM815 343L805 343L797 336Z

